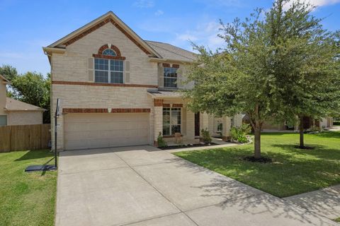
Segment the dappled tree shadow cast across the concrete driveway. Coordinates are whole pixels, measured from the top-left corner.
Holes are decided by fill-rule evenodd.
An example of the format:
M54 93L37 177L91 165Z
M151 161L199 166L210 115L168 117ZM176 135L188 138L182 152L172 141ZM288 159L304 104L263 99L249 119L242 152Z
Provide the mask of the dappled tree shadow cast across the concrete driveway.
M251 219L256 221L259 216L262 216L272 225L279 224L283 220L288 225L328 225L327 222L330 222L317 213L297 207L270 194L261 193L261 191L259 192L259 190L234 179L222 177L220 174L212 175L210 170L192 162L186 160L172 161L176 164L176 167L187 169L186 173L188 174L184 174L182 177L196 177L193 176L195 174L198 174L199 177L210 177L210 182L205 182L205 184L197 180L184 186L198 191L197 194L200 196L197 197L198 199L213 198L216 200L216 205L211 208L215 208L217 213L223 211L223 214L228 214L237 211L242 214L242 218L250 219L250 222ZM188 189L183 189L183 191L190 192L190 189ZM237 218L235 220L237 221ZM242 222L242 219L239 220ZM234 223L237 224L237 222Z

